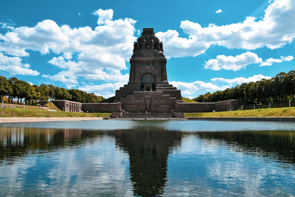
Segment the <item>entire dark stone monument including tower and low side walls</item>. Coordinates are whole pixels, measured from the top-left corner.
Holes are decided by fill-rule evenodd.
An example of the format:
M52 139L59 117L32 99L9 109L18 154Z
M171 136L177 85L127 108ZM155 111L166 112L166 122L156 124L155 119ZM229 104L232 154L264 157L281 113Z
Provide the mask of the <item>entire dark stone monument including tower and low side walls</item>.
M242 105L241 100L183 103L181 91L168 83L166 63L163 43L155 36L153 28L143 28L141 36L134 42L129 82L116 90L114 102L80 103L78 106L81 105L81 108L78 107L77 110L112 113L113 116L122 118L139 117L144 113L148 113L149 116L152 114L155 117L172 118L176 113L177 116L184 117L184 113L236 110ZM74 104L70 103L68 106L68 101L54 103L57 102L60 103L60 109L76 110L76 107L73 109Z

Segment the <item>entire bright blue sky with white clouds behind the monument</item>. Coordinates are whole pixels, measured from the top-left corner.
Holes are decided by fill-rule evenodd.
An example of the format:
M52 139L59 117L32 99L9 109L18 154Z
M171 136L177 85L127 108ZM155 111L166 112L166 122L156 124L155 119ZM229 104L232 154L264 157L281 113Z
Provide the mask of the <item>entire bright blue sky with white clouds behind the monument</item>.
M0 1L0 75L105 98L154 28L184 97L295 69L294 0Z

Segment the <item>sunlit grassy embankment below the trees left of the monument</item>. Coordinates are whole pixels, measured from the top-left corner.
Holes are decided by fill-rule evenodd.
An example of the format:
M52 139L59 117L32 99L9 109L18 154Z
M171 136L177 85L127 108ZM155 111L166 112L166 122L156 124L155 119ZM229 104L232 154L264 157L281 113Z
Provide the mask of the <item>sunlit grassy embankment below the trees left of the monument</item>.
M8 104L6 104L8 106ZM111 113L79 113L79 112L63 112L60 111L53 103L46 104L47 107L35 107L18 105L15 108L0 108L0 117L109 117ZM47 111L45 109L54 109L59 111Z

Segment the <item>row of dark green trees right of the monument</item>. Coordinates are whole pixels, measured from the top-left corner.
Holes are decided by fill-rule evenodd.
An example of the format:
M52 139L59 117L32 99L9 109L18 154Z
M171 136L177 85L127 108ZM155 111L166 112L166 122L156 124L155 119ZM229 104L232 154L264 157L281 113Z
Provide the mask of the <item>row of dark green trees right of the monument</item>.
M288 100L294 101L295 70L281 72L271 79L261 79L257 82L242 83L232 88L214 93L206 93L194 98L197 102L219 102L223 100L240 99L256 103L276 103Z

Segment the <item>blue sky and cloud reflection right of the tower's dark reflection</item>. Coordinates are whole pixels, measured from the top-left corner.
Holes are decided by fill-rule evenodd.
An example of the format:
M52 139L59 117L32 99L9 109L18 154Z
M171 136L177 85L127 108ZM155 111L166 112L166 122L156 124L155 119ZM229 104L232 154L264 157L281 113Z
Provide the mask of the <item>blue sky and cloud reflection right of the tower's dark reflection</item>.
M258 152L246 154L243 151L220 140L183 136L181 147L171 149L168 155L164 196L292 193L289 186L280 182L294 180L294 171L282 171L278 160L271 156L258 157Z

